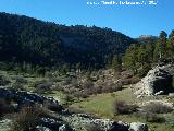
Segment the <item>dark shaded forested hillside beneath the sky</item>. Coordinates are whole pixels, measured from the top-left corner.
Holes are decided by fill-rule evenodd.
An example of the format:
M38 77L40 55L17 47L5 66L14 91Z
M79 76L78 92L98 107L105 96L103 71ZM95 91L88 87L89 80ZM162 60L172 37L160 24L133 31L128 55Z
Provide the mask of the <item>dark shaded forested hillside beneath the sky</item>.
M133 43L110 28L65 26L0 13L1 68L104 68Z

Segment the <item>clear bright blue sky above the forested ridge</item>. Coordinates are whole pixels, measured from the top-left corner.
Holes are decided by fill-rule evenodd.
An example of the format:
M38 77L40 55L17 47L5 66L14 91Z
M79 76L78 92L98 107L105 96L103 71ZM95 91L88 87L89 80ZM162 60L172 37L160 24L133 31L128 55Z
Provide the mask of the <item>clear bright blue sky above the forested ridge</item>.
M148 3L149 0L144 1ZM158 0L157 5L88 5L87 2L100 0L0 0L0 12L58 24L109 27L130 37L174 29L174 0Z

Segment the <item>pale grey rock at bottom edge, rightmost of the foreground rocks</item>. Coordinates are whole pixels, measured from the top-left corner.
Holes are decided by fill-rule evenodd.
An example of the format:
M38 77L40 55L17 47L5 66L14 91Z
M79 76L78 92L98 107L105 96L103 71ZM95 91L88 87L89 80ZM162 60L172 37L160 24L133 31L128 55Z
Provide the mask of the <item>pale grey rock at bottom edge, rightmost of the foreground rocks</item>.
M148 131L148 126L141 122L132 122L129 131Z

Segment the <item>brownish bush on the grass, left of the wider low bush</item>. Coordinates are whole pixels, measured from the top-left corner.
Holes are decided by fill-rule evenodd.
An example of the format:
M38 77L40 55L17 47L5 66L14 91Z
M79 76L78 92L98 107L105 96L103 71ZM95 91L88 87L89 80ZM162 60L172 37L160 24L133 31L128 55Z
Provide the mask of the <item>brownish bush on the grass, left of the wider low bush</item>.
M113 103L113 111L114 114L132 114L137 111L137 105L128 105L124 100L115 100Z

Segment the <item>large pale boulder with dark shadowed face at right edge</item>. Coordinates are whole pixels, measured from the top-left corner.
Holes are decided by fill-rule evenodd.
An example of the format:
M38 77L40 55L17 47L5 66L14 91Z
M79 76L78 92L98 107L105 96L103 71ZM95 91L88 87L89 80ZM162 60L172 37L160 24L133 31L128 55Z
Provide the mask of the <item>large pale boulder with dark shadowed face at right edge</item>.
M136 85L136 95L161 95L172 91L174 64L157 66Z

